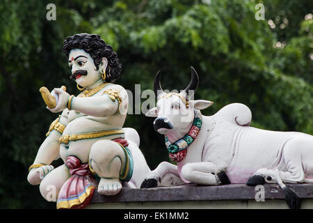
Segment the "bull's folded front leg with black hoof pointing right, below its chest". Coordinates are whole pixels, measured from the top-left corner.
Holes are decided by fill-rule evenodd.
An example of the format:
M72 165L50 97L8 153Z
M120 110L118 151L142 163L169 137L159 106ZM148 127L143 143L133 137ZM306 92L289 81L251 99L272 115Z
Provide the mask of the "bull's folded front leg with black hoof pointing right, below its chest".
M225 171L213 162L192 162L182 167L182 177L192 183L201 185L225 185L230 184Z

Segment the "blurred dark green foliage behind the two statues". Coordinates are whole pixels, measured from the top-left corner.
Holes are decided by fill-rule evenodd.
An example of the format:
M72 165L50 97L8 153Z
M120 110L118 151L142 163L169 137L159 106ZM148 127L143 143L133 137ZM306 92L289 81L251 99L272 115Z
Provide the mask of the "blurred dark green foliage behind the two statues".
M48 3L56 20L46 18ZM255 19L257 3L265 20ZM241 102L252 126L313 134L312 9L312 0L0 0L0 208L56 208L26 177L57 116L38 90L79 93L62 52L67 36L101 35L118 52L125 89L152 89L159 69L163 89L184 89L193 66L195 99L215 102L202 114ZM152 121L129 115L125 127L139 132L154 169L168 152Z

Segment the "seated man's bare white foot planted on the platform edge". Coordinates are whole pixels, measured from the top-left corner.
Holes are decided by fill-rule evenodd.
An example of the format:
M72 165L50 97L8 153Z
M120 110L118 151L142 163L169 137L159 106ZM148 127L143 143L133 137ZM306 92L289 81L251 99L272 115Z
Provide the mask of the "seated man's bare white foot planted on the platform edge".
M118 178L101 178L98 185L98 193L103 195L115 195L122 189Z

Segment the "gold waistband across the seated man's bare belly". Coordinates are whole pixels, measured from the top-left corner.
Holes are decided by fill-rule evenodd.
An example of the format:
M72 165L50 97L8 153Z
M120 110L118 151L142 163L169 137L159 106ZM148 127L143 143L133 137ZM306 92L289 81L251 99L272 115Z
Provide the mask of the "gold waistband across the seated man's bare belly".
M87 132L81 134L65 134L58 141L61 144L68 144L69 141L76 141L80 139L94 139L99 137L110 136L113 134L124 134L123 130L104 130L101 132Z

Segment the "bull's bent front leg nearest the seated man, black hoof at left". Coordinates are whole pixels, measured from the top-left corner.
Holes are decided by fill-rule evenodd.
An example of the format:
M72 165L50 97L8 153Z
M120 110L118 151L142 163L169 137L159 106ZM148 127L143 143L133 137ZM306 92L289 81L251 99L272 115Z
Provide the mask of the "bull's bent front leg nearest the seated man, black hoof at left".
M177 166L169 162L161 162L159 166L150 171L143 183L143 187L158 187L158 186L176 186L182 185L184 181L179 176Z

